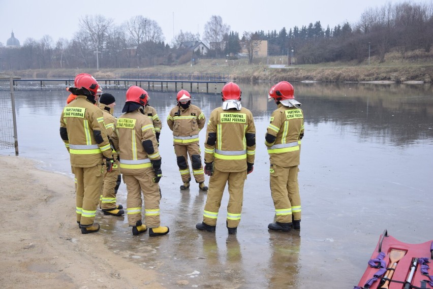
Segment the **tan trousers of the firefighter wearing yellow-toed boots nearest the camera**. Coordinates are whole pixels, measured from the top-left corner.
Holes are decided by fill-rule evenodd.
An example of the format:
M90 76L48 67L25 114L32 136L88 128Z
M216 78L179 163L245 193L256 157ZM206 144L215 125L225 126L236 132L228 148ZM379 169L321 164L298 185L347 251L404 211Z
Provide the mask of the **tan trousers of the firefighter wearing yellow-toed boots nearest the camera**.
M144 197L144 215L145 221L143 224L147 228L160 227L160 200L161 192L158 183L153 182L155 173L152 168L144 169L145 172L141 175L125 175L123 174L123 182L125 182L128 190L127 196L127 215L129 226L136 226L137 221L142 220L141 192Z

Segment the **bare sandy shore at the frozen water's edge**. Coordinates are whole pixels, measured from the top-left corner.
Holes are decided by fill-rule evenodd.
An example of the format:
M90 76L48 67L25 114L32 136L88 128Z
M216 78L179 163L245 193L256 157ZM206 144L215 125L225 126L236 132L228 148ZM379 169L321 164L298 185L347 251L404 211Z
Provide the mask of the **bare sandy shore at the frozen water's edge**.
M103 234L81 234L71 178L15 156L0 156L0 175L2 287L163 288L155 271L109 251Z

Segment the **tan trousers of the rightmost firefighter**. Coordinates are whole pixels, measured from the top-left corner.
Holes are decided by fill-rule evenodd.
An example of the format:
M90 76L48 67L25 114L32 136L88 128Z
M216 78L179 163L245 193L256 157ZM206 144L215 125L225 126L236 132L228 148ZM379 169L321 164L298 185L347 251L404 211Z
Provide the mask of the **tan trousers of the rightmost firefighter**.
M301 219L298 172L298 166L270 165L269 181L277 222L291 223L292 214L293 219Z

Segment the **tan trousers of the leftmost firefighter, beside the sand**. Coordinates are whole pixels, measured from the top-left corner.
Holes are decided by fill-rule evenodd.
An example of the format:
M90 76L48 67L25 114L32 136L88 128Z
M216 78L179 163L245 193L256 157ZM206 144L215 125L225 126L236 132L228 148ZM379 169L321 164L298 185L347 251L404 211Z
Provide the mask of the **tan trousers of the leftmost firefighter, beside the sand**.
M96 208L101 194L104 167L98 164L90 168L74 167L76 186L77 221L81 226L91 226L95 221Z

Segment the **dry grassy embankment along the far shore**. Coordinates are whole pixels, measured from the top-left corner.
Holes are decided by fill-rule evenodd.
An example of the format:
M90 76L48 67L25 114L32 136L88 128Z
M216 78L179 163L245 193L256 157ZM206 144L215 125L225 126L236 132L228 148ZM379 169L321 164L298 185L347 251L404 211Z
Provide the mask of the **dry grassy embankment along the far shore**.
M268 65L278 65L283 68L271 68ZM119 73L221 73L228 74L233 81L322 81L322 82L362 82L362 81L393 81L393 82L433 82L433 51L425 53L415 51L402 55L388 53L385 62L379 63L377 57L370 57L358 63L329 62L318 65L288 66L287 57L255 58L249 65L248 59L200 59L194 66L185 63L177 66L154 66L148 68L130 69L44 69L21 70L6 72L22 78L55 78L70 77L86 72L96 78L115 78Z

